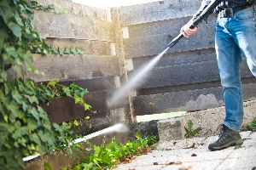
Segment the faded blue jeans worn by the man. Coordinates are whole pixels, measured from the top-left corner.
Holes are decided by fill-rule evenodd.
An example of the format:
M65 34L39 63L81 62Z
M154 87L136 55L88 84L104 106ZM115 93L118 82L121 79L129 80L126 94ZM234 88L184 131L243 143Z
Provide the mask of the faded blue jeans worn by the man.
M230 18L218 16L215 47L221 85L224 88L224 125L239 131L243 122L241 59L256 77L256 5Z

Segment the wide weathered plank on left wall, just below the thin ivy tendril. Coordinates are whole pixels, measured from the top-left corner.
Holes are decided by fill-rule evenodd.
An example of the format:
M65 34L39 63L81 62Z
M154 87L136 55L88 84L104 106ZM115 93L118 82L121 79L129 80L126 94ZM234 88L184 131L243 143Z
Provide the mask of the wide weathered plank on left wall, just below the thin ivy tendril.
M36 82L119 76L119 59L113 55L35 54L33 59L34 66L43 72L43 75L29 76Z

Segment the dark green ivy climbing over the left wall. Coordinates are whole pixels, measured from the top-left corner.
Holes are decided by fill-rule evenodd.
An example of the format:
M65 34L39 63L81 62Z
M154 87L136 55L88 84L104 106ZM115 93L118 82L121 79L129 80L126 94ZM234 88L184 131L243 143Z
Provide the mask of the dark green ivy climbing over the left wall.
M62 126L49 122L42 105L50 99L68 96L90 110L84 88L25 78L27 73L39 73L32 65L32 54L68 54L39 36L32 26L34 9L52 11L54 7L29 0L0 1L0 169L5 170L22 167L22 157L63 149L76 138L71 130L76 122ZM70 54L81 52L68 49Z

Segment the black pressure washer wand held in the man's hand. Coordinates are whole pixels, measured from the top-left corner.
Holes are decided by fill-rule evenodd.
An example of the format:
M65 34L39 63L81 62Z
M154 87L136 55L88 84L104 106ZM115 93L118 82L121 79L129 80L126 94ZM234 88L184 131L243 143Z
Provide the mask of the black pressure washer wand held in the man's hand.
M200 15L198 15L195 19L193 18L189 20L189 22L191 22L191 26L189 26L189 28L193 29L195 26L199 25L199 23L201 23L201 21L204 20L209 14L212 14L213 9L216 8L219 3L221 3L221 0L212 0L212 2L201 12ZM183 34L180 33L177 37L173 38L172 42L168 44L168 47L172 48L183 37Z

